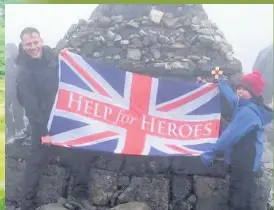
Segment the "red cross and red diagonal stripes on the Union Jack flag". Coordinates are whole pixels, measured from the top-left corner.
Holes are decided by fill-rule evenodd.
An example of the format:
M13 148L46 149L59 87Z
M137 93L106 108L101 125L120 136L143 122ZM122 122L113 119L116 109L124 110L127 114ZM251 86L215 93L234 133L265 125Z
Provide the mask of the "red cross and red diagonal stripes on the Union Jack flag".
M68 62L76 71L78 71L85 79L92 84L96 90L105 97L110 97L110 95L104 90L104 87L101 86L89 73L87 73L81 65L79 65L73 57L71 57L66 51L61 53L63 59ZM186 97L183 97L175 102L168 103L164 106L158 108L158 111L168 112L175 108L181 107L184 104L189 103L190 101L200 97L201 95L213 90L216 88L216 84L212 84L203 89L200 89L193 94L190 94ZM130 89L130 103L128 109L122 109L121 107L104 103L102 101L96 100L94 98L84 97L81 94L73 93L73 91L60 89L58 100L56 103L56 108L59 110L64 110L68 112L77 113L79 115L89 117L94 120L105 122L108 124L116 125L121 128L126 129L125 144L122 154L133 154L140 155L142 154L145 148L146 135L154 135L163 138L177 139L177 140L187 140L187 139L199 139L202 138L203 134L195 135L189 134L188 127L195 126L197 122L187 122L187 121L176 121L173 119L163 119L161 117L152 116L149 114L150 107L150 98L152 90L152 77L143 76L139 74L133 74L132 83ZM87 109L80 107L79 104L74 104L71 107L68 107L69 100L71 97L74 97L74 101L79 101L80 97L82 101L85 101L85 107L87 103L90 104L90 107L93 110L93 114L87 112ZM92 104L92 105L91 105ZM125 123L126 121L126 123ZM153 123L152 123L153 122ZM210 134L210 138L216 138L218 136L218 120L205 120L200 122L200 126L206 126L208 123L213 127L213 132ZM152 127L154 125L154 128ZM166 125L166 127L163 126ZM189 134L186 136L178 135L178 128L180 127L181 134ZM141 129L142 128L142 129ZM177 130L176 130L177 129ZM160 131L160 132L159 132ZM112 136L117 135L115 132L105 132L105 135ZM96 138L93 136L93 140L100 138L100 135L97 135ZM81 139L73 139L67 144L73 145L74 143L85 143L90 142L91 138L85 137ZM168 142L167 142L168 144ZM180 151L183 150L181 147L176 148L175 145L170 145L170 148ZM185 152L185 151L181 151Z

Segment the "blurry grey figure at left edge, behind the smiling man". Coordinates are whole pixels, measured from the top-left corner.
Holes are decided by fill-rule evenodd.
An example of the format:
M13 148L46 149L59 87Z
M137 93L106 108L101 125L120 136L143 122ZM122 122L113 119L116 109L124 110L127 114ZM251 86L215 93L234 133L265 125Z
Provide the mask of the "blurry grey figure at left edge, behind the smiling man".
M6 61L5 61L5 89L6 89L6 125L7 125L7 139L10 137L23 138L24 137L24 109L18 103L15 91L15 80L17 75L17 67L15 60L18 49L13 43L8 43L5 46Z

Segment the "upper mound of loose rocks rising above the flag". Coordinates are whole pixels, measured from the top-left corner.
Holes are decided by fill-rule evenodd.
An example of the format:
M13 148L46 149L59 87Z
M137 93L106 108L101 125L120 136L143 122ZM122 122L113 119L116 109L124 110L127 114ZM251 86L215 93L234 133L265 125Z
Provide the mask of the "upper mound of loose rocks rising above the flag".
M73 24L57 49L155 77L189 79L242 66L201 5L100 5Z

